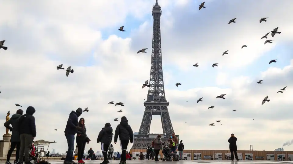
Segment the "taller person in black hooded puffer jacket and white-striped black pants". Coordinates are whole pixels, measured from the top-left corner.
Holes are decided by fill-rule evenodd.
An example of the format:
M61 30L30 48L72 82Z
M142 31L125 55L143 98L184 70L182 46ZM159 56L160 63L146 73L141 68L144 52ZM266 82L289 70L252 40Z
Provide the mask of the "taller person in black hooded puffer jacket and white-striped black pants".
M114 136L114 143L116 144L119 135L120 146L122 149L121 159L119 164L126 164L126 149L129 143L133 142L133 131L128 125L128 120L125 116L121 117L120 124L117 125Z

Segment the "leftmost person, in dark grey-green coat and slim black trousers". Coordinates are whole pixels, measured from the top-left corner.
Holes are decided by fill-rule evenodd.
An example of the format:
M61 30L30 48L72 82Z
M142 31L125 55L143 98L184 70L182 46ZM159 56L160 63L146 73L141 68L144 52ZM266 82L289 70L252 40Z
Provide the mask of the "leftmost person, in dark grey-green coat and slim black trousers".
M24 114L24 111L19 109L16 111L16 114L13 114L11 116L11 118L4 123L5 128L9 129L10 132L12 132L11 138L10 138L11 145L10 145L10 149L7 153L7 159L6 159L5 164L11 164L9 161L10 161L11 154L12 154L13 150L15 149L15 147L16 147L16 154L15 154L14 164L18 164L19 149L20 149L20 135L19 135L18 128L19 128L19 119L23 114ZM9 126L10 124L12 127Z

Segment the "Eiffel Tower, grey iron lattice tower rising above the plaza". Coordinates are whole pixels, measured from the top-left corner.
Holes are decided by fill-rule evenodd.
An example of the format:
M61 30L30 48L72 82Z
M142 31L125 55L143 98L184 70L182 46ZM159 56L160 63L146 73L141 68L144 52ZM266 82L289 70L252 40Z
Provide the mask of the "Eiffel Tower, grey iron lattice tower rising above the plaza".
M161 28L160 17L162 15L161 6L156 4L153 6L152 15L154 18L153 25L153 43L152 43L152 59L150 66L150 87L147 94L147 100L143 103L146 107L143 114L143 120L138 133L134 133L134 141L131 149L146 149L151 146L151 142L159 134L150 134L150 123L153 115L160 115L163 127L162 142L168 143L168 138L174 132L169 112L169 102L166 101L163 68L162 68L162 52L161 52ZM179 139L179 135L176 135Z

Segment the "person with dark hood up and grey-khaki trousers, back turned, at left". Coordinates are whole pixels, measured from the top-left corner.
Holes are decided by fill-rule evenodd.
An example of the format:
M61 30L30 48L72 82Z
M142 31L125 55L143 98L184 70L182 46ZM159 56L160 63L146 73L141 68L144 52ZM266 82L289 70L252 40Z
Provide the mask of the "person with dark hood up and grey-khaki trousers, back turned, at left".
M19 163L23 163L23 156L25 164L32 164L30 157L31 143L37 135L36 120L33 114L36 112L34 107L27 107L26 114L19 118L19 134L20 134L20 151Z

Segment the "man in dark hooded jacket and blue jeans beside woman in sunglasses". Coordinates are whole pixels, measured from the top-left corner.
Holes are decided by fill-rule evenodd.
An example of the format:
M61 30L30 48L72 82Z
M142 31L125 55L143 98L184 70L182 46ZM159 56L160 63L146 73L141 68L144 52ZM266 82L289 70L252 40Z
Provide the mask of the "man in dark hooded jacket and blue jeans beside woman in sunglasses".
M82 114L82 109L78 108L76 111L71 111L69 114L69 118L67 120L66 128L64 131L65 137L67 139L67 145L68 145L68 150L67 150L67 155L64 160L64 164L76 164L72 160L72 155L74 151L74 135L77 132L77 130L80 128L78 126L78 117Z

